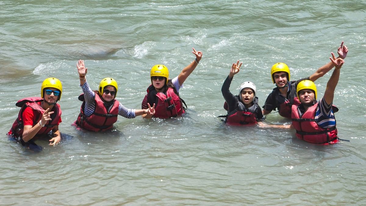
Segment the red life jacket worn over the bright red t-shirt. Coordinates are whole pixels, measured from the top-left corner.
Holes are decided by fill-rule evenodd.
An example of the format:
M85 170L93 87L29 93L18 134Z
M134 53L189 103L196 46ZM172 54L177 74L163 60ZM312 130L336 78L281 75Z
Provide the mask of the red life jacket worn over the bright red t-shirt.
M22 120L22 115L25 110L25 108L30 107L33 111L37 111L36 117L33 119L33 126L36 124L39 124L38 122L42 119L42 115L45 112L45 110L41 107L38 102L42 102L43 99L39 97L30 97L30 98L24 98L20 99L18 102L16 102L16 106L21 107L18 118L14 121L10 131L8 132L8 135L11 135L12 137L15 137L18 140L22 140L23 136L23 129L24 129L24 122ZM42 136L47 135L55 126L59 124L59 119L61 117L61 108L59 104L55 104L52 108L52 111L54 111L53 114L51 114L51 121L47 121L45 126L42 127L36 134L36 136Z

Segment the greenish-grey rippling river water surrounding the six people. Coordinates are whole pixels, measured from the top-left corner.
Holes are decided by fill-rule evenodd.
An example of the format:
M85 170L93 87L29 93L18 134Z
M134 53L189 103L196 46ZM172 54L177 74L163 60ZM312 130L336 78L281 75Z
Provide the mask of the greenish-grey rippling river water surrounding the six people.
M365 205L365 1L0 1L0 205ZM291 80L349 48L335 91L341 143L320 146L294 131L224 125L221 86L257 86L259 105L274 85L270 67L290 66ZM183 117L126 119L113 131L71 126L81 102L76 61L84 59L93 89L104 77L117 99L141 108L150 68L170 77L203 58L180 90ZM315 83L323 96L332 71ZM15 102L40 96L41 82L63 84L55 147L34 153L6 132ZM266 121L284 124L278 113Z

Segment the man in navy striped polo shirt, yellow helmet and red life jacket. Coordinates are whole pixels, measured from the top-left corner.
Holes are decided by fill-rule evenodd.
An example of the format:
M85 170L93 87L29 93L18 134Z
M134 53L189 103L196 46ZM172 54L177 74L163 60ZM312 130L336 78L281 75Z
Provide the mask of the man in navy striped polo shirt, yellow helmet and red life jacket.
M338 108L333 106L334 91L338 84L340 69L344 63L336 58L333 52L330 60L335 65L332 76L326 84L323 98L317 101L317 88L313 81L303 80L297 85L297 104L292 105L291 125L265 125L262 127L293 128L296 137L317 144L334 144L339 141L334 113Z

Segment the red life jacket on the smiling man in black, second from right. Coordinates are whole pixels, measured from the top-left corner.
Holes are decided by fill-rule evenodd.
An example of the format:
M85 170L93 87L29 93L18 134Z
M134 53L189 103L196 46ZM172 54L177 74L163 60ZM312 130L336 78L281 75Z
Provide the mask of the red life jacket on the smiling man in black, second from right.
M283 99L280 98L280 91L278 88L273 89L274 93L273 95L275 96L275 99L277 101L277 104L279 104L278 109L278 113L282 116L282 117L286 117L291 119L291 111L292 111L292 105L296 104L296 102L294 102L294 98L296 98L296 81L291 81L289 82L291 84L291 90L290 90L290 94L287 96L287 98L285 99L285 101L283 101Z

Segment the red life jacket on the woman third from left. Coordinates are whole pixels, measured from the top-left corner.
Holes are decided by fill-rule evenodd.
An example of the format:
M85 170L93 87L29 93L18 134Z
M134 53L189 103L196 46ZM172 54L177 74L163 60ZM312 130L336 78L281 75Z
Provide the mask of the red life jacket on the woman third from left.
M165 93L156 93L155 88L150 85L146 92L150 105L155 103L154 117L170 118L184 113L182 99L180 99L179 94L175 93L173 88L168 87ZM156 93L155 96L154 93Z

